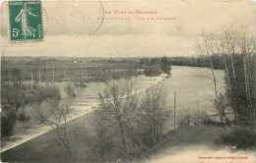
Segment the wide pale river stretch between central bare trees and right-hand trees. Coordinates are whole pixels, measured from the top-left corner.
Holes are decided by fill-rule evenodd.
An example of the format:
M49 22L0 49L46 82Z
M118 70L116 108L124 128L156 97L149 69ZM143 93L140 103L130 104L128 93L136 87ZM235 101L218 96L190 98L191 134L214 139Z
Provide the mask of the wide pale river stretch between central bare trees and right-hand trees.
M216 70L218 92L224 92L224 71ZM185 117L194 119L200 113L216 114L215 91L210 69L173 66L171 78L163 82L166 91L166 105L172 116L166 124L166 132L174 128L174 92L176 92L176 124Z

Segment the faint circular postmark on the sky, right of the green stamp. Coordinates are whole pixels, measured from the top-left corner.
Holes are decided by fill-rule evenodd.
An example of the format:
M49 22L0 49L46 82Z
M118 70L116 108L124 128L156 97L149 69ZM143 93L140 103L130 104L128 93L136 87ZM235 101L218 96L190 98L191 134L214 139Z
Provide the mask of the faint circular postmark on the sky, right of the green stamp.
M104 6L95 1L44 1L44 32L58 34L96 34L104 22Z

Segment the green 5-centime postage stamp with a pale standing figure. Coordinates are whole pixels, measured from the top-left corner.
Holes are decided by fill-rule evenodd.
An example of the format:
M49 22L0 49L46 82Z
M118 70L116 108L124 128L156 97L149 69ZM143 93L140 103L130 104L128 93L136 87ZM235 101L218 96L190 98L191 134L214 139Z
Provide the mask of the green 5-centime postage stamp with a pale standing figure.
M41 2L9 1L10 38L13 41L43 38Z

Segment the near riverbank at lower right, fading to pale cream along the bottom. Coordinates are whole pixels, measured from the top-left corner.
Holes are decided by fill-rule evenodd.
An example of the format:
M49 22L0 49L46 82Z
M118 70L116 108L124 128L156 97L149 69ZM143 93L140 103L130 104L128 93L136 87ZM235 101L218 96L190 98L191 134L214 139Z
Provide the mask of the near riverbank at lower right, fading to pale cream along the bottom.
M222 143L222 137L237 126L184 126L169 132L152 152L138 163L254 163L256 147L242 150ZM256 128L253 128L256 130Z

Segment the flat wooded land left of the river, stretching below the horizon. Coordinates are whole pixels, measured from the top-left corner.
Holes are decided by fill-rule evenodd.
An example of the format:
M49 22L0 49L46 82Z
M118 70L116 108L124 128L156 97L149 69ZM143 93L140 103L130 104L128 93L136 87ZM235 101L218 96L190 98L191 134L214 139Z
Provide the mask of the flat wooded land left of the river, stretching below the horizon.
M46 86L56 81L106 81L138 75L169 74L170 61L161 58L1 57L2 83Z

